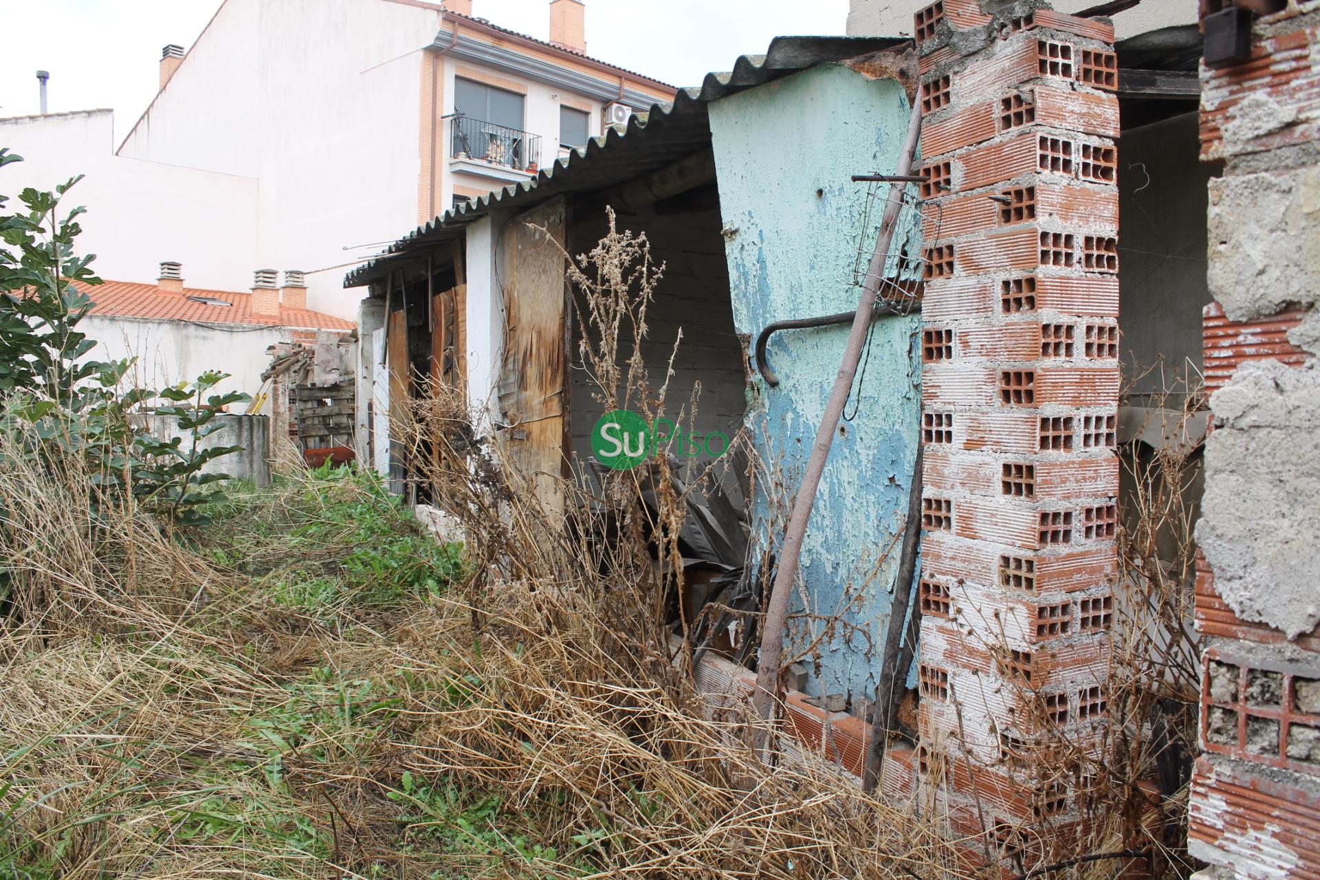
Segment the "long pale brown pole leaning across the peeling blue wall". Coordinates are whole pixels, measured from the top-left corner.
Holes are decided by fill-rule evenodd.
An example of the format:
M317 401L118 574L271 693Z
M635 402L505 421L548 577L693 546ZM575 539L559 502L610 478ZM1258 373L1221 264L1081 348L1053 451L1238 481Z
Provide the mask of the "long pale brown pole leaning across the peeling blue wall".
M921 133L921 102L912 99L912 119L908 123L907 139L903 142L903 152L899 153L899 168L896 177L907 177L912 170L912 158L916 154L917 137ZM906 182L890 185L888 203L884 207L884 218L880 222L880 231L875 239L875 249L871 252L871 261L866 268L866 278L862 284L862 296L857 302L857 314L853 317L853 329L847 334L847 346L843 348L843 363L834 377L834 389L825 404L825 414L820 427L816 429L816 442L812 454L807 459L807 471L803 474L801 486L797 487L797 496L793 499L793 509L788 517L788 529L784 533L784 544L779 551L779 567L775 571L775 583L770 591L770 603L766 607L766 620L760 635L760 657L756 666L756 690L752 694L752 706L762 722L770 722L775 714L775 698L777 695L779 669L784 654L784 627L788 620L788 598L792 592L793 577L797 574L797 558L801 555L803 538L807 534L807 522L812 516L812 507L816 504L816 489L820 487L821 474L825 471L825 462L829 459L830 445L834 442L834 433L838 430L838 420L843 413L849 392L853 388L853 379L857 376L857 364L862 358L862 346L866 342L866 331L871 326L871 313L875 303L875 294L884 277L884 265L888 263L890 243L894 240L894 230L898 226L899 211L903 207L903 187ZM758 752L766 743L768 726L763 724L756 732Z

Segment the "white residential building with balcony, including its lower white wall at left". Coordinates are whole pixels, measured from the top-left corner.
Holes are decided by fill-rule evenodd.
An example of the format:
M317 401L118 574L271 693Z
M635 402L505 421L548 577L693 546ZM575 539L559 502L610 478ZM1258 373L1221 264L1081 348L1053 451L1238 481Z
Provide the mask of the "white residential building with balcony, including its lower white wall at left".
M345 264L673 96L586 54L581 0L548 13L543 41L471 0L224 0L190 47L164 49L117 148L110 111L0 120L0 145L29 160L0 191L86 173L70 198L103 276L149 284L168 253L234 290L252 267L296 265L313 309L352 318Z

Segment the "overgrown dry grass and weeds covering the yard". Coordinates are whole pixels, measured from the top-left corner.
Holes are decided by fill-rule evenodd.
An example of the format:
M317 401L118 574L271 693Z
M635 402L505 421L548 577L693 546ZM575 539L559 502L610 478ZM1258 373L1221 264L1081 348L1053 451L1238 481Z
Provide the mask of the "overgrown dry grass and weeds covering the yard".
M644 327L639 261L644 240L612 228L577 259L587 319ZM636 339L599 344L583 355L603 402L622 387L665 414ZM675 489L663 456L524 478L438 388L396 427L461 555L362 474L285 472L166 534L77 462L0 449L0 877L973 876L957 844L987 844L950 840L929 789L873 798L783 743L763 763L748 714L697 693L668 621L701 479ZM1092 819L1068 855L1155 850L1167 876L1187 868L1181 782L1163 800L1140 782L1187 731L1166 660L1188 650L1189 545L1152 561L1191 522L1180 462L1134 471L1156 491L1123 545L1139 602L1115 610L1130 674L1107 691L1110 740L1057 743Z

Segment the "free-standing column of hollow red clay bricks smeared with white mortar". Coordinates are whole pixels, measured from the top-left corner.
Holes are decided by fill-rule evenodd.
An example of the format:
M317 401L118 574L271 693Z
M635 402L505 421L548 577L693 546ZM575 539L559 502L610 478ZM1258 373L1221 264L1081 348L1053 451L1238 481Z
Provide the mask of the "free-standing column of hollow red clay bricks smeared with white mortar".
M1076 852L1105 723L1118 459L1104 21L916 15L928 182L919 769L969 858ZM1072 843L1069 843L1072 840ZM1069 848L1072 847L1072 848Z

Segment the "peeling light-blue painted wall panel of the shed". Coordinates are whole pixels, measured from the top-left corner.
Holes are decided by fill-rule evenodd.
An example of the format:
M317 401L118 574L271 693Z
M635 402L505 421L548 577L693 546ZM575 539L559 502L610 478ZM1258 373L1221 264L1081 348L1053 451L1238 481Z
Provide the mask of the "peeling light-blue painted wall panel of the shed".
M854 263L875 243L880 208L863 230L862 172L892 172L909 117L899 83L826 65L710 106L734 325L755 340L767 323L857 306ZM920 247L915 218L895 239ZM863 245L865 243L865 245ZM920 319L873 325L865 375L854 383L834 439L801 557L791 644L814 644L807 662L816 694L871 698L888 625L900 530L919 442ZM752 503L754 533L783 536L825 401L838 372L846 325L771 338L777 388L759 375L747 424L770 467ZM859 394L858 394L859 391ZM825 619L838 615L834 624Z

